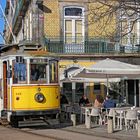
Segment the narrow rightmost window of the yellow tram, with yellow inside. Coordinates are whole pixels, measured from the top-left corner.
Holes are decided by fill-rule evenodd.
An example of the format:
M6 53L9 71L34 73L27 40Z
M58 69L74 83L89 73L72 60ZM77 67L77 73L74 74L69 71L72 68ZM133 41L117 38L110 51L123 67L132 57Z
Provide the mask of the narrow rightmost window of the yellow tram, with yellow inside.
M50 83L58 82L58 62L50 61Z

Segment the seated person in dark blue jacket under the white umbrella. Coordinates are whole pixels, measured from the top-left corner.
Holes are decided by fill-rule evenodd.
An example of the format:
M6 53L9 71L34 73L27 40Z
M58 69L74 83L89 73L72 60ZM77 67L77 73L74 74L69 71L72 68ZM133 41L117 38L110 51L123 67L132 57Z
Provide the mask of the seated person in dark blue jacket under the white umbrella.
M110 98L109 95L107 95L103 106L104 108L113 108L116 107L116 103Z

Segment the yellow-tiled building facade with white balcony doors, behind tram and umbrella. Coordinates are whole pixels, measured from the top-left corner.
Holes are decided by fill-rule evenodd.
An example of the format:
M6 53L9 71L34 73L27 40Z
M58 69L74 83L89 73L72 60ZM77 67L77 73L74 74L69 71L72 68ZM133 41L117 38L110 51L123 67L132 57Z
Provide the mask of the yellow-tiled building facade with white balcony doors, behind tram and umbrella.
M122 48L125 44L121 46L115 40L118 35L115 16L109 24L104 19L94 22L96 17L92 15L92 10L96 5L99 3L89 0L7 0L5 43L18 44L18 51L46 50L56 53L60 57L60 78L63 78L66 69L90 67L106 57L133 63L131 58L136 54L134 63L139 64L139 50L126 55ZM112 34L113 38L108 34ZM103 95L105 90L102 85L68 81L62 83L63 88L70 88L69 98L76 102L83 93L88 94L89 91L88 96L91 100L95 99L94 89L98 90L97 94ZM82 88L77 91L78 87Z

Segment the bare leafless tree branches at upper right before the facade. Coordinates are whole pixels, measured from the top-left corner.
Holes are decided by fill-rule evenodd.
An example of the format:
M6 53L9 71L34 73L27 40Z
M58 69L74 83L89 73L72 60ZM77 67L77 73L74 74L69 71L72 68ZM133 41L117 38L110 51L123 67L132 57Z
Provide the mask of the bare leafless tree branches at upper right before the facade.
M140 0L90 0L93 5L88 13L90 24L100 23L100 33L119 41L126 35L136 35L135 26L140 19ZM114 20L113 32L108 32ZM140 24L140 23L139 23ZM138 36L138 35L136 35Z

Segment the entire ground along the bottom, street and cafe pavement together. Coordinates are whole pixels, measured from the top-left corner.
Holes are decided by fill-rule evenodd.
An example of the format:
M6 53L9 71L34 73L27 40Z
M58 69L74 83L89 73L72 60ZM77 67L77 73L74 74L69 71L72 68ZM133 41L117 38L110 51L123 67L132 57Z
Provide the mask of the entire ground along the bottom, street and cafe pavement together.
M114 133L107 133L107 125L95 126L91 129L84 124L72 126L70 123L61 123L58 126L39 126L13 129L0 126L0 140L140 140L137 137L137 130L121 130Z

